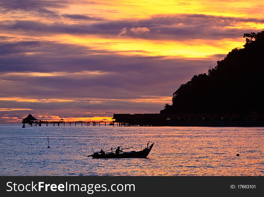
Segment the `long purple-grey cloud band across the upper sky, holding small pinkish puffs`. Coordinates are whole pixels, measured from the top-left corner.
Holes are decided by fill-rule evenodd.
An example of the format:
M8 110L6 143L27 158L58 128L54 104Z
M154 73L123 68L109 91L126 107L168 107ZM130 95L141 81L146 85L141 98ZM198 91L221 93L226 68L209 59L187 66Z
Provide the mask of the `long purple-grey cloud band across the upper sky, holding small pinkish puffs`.
M72 18L89 16L71 15ZM203 14L181 14L173 16L153 16L150 19L117 20L95 23L66 24L55 22L46 24L36 21L5 21L2 31L20 31L26 34L100 34L140 37L144 39L223 39L241 37L255 29L235 28L238 22L264 23L263 19L211 16ZM226 28L228 27L228 28ZM234 28L232 28L234 27ZM126 31L125 33L124 30Z

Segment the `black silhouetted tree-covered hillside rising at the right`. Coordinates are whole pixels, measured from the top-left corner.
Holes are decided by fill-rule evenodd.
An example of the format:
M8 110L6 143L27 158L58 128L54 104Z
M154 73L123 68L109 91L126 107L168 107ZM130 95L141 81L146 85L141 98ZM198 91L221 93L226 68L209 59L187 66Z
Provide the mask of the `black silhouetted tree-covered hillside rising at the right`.
M238 113L264 114L264 31L244 34L244 48L232 49L209 68L208 74L195 75L173 93L173 104L161 113Z

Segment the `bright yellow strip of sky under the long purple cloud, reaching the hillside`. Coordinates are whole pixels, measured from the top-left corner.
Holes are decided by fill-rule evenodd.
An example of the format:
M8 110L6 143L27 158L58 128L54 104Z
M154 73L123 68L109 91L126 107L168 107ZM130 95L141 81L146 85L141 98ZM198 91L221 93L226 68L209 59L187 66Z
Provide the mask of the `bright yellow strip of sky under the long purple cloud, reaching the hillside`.
M244 39L212 40L143 40L143 39L105 39L90 36L60 37L60 41L68 40L70 43L88 46L92 49L105 50L107 53L119 53L121 55L144 56L171 56L184 58L199 58L214 54L227 54L230 49L244 44Z

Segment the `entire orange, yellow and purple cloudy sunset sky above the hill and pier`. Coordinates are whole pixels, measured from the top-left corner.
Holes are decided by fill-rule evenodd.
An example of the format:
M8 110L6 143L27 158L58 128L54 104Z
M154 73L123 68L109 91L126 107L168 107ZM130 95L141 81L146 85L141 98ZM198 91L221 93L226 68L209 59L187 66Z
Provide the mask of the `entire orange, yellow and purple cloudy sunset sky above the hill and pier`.
M159 113L244 33L264 1L0 1L0 124Z

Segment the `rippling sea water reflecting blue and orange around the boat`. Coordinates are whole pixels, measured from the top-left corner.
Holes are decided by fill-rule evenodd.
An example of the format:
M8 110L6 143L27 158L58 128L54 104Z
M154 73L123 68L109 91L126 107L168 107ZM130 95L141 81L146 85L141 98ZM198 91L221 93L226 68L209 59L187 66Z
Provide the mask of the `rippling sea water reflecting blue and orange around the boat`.
M103 146L137 151L149 140L155 144L146 159L87 157L91 146L94 151ZM0 175L5 176L264 175L261 127L0 125L0 150Z

